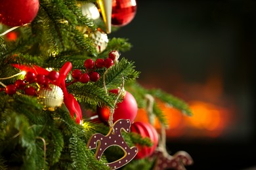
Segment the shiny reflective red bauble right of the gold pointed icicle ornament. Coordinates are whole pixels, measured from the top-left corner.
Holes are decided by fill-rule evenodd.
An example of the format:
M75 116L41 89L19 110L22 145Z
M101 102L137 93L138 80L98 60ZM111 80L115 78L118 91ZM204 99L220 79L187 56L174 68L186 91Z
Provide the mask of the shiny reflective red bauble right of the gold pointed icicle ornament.
M112 1L112 25L123 26L129 24L135 17L137 3L135 0Z

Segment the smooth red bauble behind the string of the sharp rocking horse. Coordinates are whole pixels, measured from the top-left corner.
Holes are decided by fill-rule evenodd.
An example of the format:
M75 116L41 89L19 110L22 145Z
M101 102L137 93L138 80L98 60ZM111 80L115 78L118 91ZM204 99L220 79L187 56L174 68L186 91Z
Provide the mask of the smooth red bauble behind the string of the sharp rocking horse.
M118 89L110 90L111 93L118 93ZM125 92L125 97L123 101L117 103L117 108L113 114L113 122L116 122L119 119L129 119L131 122L135 120L137 115L138 106L137 101L133 95L129 92ZM102 122L108 122L110 116L110 109L108 107L97 107L98 118Z

